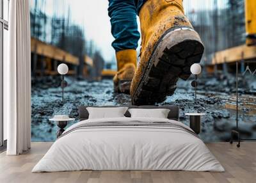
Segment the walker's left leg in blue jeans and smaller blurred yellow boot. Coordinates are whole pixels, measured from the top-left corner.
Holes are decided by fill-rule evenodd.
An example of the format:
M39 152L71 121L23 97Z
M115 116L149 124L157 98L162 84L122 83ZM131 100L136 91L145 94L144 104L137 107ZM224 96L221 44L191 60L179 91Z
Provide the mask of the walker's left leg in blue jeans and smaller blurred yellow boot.
M116 51L118 72L114 77L115 92L129 93L132 77L137 65L136 48L140 33L136 22L136 6L133 0L109 0L108 14L112 43Z

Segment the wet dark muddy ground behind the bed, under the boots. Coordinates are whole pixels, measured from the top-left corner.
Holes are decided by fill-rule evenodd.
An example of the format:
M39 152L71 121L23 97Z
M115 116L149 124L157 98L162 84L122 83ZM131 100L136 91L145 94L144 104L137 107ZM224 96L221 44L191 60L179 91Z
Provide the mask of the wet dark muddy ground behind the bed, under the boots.
M60 76L36 77L32 80L32 141L54 141L56 123L53 115L77 116L77 107L130 104L129 95L113 93L109 79L86 81L67 77L65 104L61 104ZM236 127L236 83L234 76L201 76L198 79L198 103L194 102L194 89L189 81L179 81L175 95L163 104L180 107L180 122L189 124L185 113L206 113L202 118L200 137L207 142L228 141L230 131ZM239 129L242 138L256 138L256 79L239 78ZM71 125L72 123L69 123Z

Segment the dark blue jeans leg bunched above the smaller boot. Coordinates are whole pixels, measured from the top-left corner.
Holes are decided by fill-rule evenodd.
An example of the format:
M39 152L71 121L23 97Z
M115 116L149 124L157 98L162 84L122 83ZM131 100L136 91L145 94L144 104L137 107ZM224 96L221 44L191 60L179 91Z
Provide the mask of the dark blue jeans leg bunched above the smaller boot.
M112 43L115 51L136 49L140 33L136 15L147 0L109 0L108 15L111 22L111 33L115 40Z

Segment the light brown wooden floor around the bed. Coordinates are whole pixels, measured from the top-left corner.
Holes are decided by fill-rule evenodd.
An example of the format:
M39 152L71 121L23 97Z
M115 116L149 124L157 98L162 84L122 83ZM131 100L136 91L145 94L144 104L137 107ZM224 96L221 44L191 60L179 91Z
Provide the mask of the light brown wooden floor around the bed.
M32 143L28 152L19 156L0 154L0 182L256 182L256 143L209 143L207 147L224 166L225 172L193 171L66 171L31 173L31 169L52 143Z

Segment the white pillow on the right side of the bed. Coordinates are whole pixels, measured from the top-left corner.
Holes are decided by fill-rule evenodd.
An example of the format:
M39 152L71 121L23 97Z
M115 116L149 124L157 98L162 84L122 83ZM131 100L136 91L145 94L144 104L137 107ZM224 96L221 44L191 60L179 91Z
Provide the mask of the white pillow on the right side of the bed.
M128 109L131 118L167 118L170 109Z

